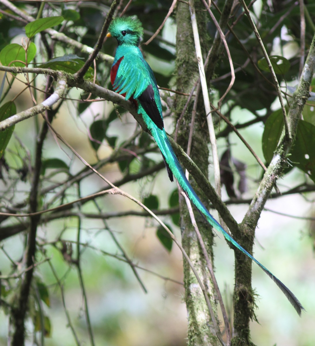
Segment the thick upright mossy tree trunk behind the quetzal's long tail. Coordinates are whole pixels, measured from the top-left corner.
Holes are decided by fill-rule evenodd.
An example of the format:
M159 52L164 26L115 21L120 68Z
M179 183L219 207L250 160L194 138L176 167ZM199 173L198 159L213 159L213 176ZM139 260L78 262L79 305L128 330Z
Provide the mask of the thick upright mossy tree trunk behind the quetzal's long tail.
M196 4L196 6L203 6L202 4ZM201 38L201 44L205 46L206 32L205 32L205 12L196 11L198 16L199 34ZM176 40L176 77L177 77L177 90L185 93L191 92L195 81L198 79L198 65L196 55L193 47L194 39L192 33L192 25L190 19L189 8L186 4L181 2L177 5L177 40ZM182 110L187 101L187 97L177 96L174 103L176 119L180 117ZM187 142L189 136L189 130L191 126L191 117L193 109L193 101L187 107L187 110L179 123L179 131L177 142L185 150L187 149ZM190 156L194 162L200 167L203 173L207 176L208 171L208 142L209 133L207 128L207 122L205 117L205 111L202 101L199 102L197 107L197 115L194 124L194 136L191 148ZM197 134L197 135L196 135ZM194 182L191 182L197 195L205 202L207 199L204 194ZM210 280L209 271L206 267L206 262L198 243L196 233L192 226L191 219L186 207L185 199L179 196L180 215L181 215L181 230L182 230L182 245L193 262L198 275L208 292L209 300L212 305L212 309L216 316L216 296L213 290L213 284ZM207 206L207 204L205 204ZM207 221L200 216L199 213L195 213L195 218L198 224L198 228L203 237L207 252L210 260L213 260L212 245L213 234ZM216 337L216 331L213 327L213 322L206 305L203 292L196 280L188 263L184 259L184 284L185 284L185 303L187 307L188 318L188 345L218 345L219 342Z

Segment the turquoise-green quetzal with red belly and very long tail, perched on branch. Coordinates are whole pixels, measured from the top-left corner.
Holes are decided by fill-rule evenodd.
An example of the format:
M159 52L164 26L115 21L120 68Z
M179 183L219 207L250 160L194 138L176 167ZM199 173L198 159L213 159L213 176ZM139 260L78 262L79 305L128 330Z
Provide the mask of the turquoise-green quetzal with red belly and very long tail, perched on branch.
M112 20L108 31L106 36L114 37L118 42L110 73L113 88L119 94L124 95L126 100L131 99L136 102L138 113L142 115L143 120L162 153L169 179L173 181L173 175L175 176L181 188L196 208L205 216L210 225L220 231L229 242L256 262L274 280L294 306L297 313L301 315L301 310L304 310L304 308L295 295L266 267L259 263L256 258L226 233L219 222L212 217L203 205L186 179L164 129L160 94L153 71L144 60L138 48L143 34L141 22L131 17L115 18Z

